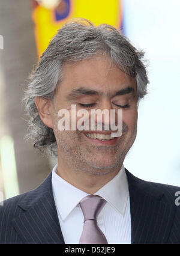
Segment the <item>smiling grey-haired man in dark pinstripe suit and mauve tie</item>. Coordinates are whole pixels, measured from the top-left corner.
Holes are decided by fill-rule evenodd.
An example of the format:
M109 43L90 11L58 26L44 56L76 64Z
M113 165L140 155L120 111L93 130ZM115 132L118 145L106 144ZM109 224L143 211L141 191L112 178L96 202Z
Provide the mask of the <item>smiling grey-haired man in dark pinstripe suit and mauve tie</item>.
M148 84L142 57L112 26L81 20L59 29L25 95L29 137L58 164L36 189L4 201L1 243L180 242L180 188L140 180L123 165ZM72 106L88 117L80 122ZM76 129L60 129L62 109ZM122 134L105 129L106 115L95 116L95 130L77 129L93 109L115 111L116 127L122 113Z

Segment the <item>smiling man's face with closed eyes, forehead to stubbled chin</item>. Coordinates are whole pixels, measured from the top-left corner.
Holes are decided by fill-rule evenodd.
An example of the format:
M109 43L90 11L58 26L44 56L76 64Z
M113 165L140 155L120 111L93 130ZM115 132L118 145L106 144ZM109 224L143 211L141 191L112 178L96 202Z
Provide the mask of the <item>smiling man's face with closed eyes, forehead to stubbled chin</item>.
M71 105L76 105L77 111L86 109L89 112L89 120L91 109L107 109L109 112L110 109L115 109L116 114L118 109L122 109L122 135L110 141L100 141L97 139L97 133L101 131L60 131L58 111L70 111L71 120ZM79 118L77 117L77 121ZM58 156L73 164L75 168L85 171L96 174L112 172L122 164L133 144L136 126L137 90L134 78L110 65L107 57L95 56L71 66L64 66L64 76L53 99L53 131ZM111 132L105 133L107 135Z

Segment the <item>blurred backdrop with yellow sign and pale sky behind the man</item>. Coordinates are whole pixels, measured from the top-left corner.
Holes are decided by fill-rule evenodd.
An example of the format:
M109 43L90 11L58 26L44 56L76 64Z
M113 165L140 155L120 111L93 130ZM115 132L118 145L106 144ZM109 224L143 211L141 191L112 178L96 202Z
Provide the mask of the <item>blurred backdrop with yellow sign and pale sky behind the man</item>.
M144 180L180 186L179 11L179 0L0 0L1 197L34 189L56 163L25 142L21 100L41 53L73 17L113 25L145 50L148 95L140 102L136 142L124 165Z

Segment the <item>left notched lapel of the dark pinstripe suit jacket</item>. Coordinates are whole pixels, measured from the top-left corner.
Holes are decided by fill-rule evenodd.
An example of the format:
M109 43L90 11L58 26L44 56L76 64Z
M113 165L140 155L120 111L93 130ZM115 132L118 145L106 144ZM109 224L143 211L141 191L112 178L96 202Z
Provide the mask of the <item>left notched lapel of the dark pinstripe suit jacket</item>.
M23 242L64 243L53 200L51 175L27 195L19 203L22 213L13 220L13 226Z

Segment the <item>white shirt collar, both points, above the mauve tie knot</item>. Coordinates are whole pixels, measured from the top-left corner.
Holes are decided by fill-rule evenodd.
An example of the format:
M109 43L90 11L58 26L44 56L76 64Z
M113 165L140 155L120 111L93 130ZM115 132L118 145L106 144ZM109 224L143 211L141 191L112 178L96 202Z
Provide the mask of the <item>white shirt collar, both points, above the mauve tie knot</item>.
M57 166L58 165L55 165L52 171L53 197L55 199L56 209L64 221L74 207L76 207L79 202L89 194L86 194L86 192L74 187L56 174ZM122 165L118 174L101 187L95 195L99 195L104 198L110 206L116 209L121 215L124 215L128 198L128 182L124 165Z

